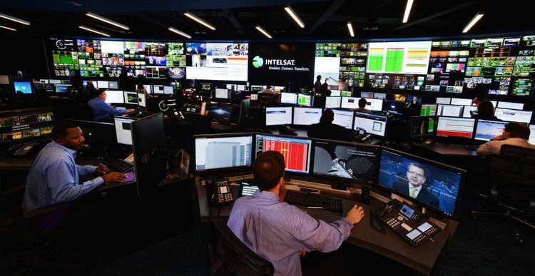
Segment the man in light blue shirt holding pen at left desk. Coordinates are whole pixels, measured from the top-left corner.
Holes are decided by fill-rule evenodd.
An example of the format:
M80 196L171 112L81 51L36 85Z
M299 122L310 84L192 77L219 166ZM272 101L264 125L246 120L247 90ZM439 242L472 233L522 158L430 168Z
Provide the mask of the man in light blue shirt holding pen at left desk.
M83 147L83 133L69 121L52 129L52 140L39 152L26 178L22 210L34 210L62 203L89 193L111 182L126 180L124 173L108 173L105 166L76 165L74 153ZM79 175L98 173L101 176L79 183Z

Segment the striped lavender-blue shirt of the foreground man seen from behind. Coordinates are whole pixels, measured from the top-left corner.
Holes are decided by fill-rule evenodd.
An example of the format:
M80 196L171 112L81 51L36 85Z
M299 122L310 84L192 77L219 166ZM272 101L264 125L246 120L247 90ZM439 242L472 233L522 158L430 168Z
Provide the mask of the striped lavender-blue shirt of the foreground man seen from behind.
M275 275L302 275L299 251L337 250L351 235L346 218L317 220L275 193L257 190L235 200L228 227L251 250L272 262Z

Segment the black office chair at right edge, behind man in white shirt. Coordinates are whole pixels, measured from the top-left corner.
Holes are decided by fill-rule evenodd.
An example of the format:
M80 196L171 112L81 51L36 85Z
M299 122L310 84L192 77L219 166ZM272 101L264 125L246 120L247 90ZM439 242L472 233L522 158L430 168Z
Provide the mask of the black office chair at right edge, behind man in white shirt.
M514 229L515 242L522 245L524 240L515 223L535 229L535 150L502 145L499 155L486 156L486 168L489 177L479 184L477 193L492 209L473 210L472 218L504 216Z

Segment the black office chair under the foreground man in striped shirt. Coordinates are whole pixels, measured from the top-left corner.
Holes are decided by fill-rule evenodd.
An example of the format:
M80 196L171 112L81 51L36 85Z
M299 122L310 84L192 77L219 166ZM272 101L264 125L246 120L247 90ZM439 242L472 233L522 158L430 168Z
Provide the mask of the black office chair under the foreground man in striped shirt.
M213 224L219 238L208 245L212 260L210 275L273 275L272 263L243 244L228 228L226 219Z

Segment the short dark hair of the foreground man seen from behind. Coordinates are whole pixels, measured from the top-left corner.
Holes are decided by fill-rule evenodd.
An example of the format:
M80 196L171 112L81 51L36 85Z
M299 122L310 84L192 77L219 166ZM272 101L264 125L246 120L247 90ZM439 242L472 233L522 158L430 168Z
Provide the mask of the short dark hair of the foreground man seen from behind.
M275 150L260 153L253 165L253 175L260 190L271 190L284 175L284 156Z

